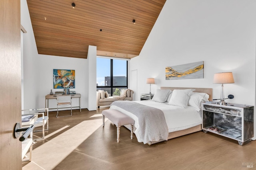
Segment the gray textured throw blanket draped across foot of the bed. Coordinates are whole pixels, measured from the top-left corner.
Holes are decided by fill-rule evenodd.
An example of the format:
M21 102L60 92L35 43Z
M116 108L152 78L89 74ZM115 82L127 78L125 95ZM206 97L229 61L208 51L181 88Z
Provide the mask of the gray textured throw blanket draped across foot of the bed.
M115 101L111 106L118 106L138 117L135 134L140 135L144 144L150 141L168 140L168 127L162 110L132 101ZM137 134L136 134L137 135Z

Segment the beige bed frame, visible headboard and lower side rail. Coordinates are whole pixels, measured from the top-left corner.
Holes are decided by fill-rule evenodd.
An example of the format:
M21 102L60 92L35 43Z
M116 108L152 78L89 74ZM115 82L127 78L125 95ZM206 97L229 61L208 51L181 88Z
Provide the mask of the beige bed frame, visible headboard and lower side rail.
M160 89L170 89L170 90L174 90L174 89L190 89L190 88L182 88L182 87L160 87ZM192 88L195 89L194 92L201 92L201 93L207 93L210 97L209 97L209 101L212 101L212 88ZM180 137L183 135L188 135L190 133L194 133L194 132L198 132L198 131L202 131L202 125L197 125L194 127L190 127L188 129L184 129L181 131L175 131L175 132L170 132L168 135L168 139L172 139L172 138L176 138L176 137ZM158 143L158 142L162 142L164 140L160 140L160 141L156 141L156 142L149 142L148 145L152 145L154 143Z

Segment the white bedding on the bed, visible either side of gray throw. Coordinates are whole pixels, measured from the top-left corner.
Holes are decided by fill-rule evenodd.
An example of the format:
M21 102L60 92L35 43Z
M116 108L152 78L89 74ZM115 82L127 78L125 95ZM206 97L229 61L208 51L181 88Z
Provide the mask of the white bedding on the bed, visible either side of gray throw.
M134 102L161 109L164 112L169 133L188 129L190 127L194 127L202 124L201 111L196 111L196 109L194 109L191 106L188 106L187 108L182 108L182 107L171 106L168 104L158 103L150 100L142 100L142 101L134 101ZM125 111L124 109L117 106L111 106L110 109L119 110L122 113L132 117L132 119L134 119L135 121L134 126L138 127L138 118L134 114L129 113L128 111Z

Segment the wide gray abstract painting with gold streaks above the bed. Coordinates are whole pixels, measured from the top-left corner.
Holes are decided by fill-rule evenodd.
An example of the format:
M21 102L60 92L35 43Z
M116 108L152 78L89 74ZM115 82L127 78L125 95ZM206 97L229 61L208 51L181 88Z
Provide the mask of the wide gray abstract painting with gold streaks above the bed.
M165 68L166 80L204 78L204 61Z

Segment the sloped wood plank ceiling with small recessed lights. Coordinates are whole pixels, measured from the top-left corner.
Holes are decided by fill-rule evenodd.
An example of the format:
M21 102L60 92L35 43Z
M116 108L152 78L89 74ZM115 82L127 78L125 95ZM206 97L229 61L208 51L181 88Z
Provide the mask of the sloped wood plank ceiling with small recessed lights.
M165 1L27 0L38 53L84 59L138 56Z

